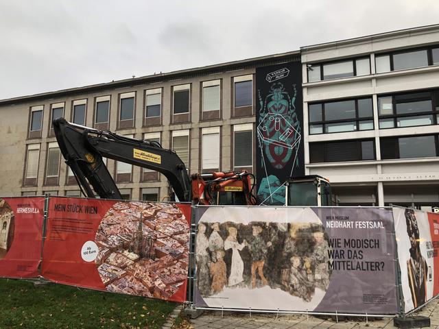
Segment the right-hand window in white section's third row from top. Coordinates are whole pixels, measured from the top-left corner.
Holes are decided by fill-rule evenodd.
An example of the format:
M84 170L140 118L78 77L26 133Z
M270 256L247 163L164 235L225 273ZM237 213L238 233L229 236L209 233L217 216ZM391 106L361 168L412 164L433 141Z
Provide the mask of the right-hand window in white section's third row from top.
M438 156L438 136L403 136L381 138L381 158L427 158Z

